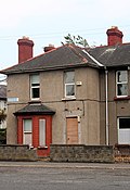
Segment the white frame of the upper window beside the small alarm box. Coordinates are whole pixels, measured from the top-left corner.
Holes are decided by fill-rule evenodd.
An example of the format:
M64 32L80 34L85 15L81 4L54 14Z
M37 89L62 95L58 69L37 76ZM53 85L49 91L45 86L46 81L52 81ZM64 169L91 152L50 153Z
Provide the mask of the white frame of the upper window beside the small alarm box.
M64 72L64 75L65 75L65 73L69 73L69 72L74 72L74 77L75 77L75 71L67 71L67 72ZM74 96L67 96L66 93L67 93L67 86L74 86ZM64 87L65 87L65 98L75 98L76 97L76 84L75 84L75 81L74 83L66 83L65 81L65 78L64 78Z

